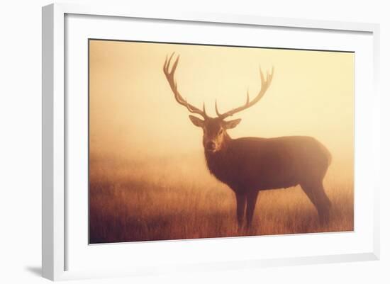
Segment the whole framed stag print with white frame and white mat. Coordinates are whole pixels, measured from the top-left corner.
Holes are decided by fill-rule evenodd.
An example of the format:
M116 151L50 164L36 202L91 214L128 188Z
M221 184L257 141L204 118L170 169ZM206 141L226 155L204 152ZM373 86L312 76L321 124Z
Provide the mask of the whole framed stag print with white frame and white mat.
M377 259L377 32L44 7L43 276Z

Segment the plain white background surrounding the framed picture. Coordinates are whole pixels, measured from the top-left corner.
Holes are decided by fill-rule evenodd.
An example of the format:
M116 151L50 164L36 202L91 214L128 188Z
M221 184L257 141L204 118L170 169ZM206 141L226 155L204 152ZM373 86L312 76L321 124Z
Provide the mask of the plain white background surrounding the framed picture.
M92 1L69 1L88 3ZM252 271L218 271L133 279L134 283L389 283L390 194L384 184L389 158L390 21L386 1L110 1L159 9L181 7L189 11L257 13L262 16L313 18L381 24L382 186L381 260L313 266L262 268ZM161 3L159 3L161 2ZM183 1L184 2L184 1ZM1 3L0 29L0 278L4 283L43 283L40 278L41 186L41 15L50 1ZM91 283L128 283L128 278L87 280ZM81 281L77 281L77 283ZM84 283L84 281L82 282Z

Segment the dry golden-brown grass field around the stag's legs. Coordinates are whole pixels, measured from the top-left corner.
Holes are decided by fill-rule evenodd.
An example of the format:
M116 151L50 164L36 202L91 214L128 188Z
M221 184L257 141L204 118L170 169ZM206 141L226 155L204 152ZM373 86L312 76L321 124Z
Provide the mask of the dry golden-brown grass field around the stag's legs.
M196 157L196 158L194 158ZM253 226L240 230L235 197L208 171L201 153L194 157L114 161L91 156L90 243L237 237L353 230L353 178L325 178L333 207L323 227L299 186L263 191Z

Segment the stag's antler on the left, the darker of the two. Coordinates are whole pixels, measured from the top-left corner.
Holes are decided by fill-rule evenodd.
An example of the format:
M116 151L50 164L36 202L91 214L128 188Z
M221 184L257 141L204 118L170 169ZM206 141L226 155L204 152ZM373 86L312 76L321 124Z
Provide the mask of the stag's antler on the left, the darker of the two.
M204 107L204 103L203 103L203 110L200 110L199 108L196 108L196 106L192 106L191 104L189 104L182 97L182 95L180 95L179 91L177 90L177 83L174 80L174 72L176 71L177 64L179 63L180 55L177 56L177 59L174 61L174 64L172 65L171 72L169 72L169 68L170 68L169 65L171 64L171 60L172 60L173 56L174 56L174 52L169 57L169 59L168 59L168 56L167 56L167 58L165 59L163 71L164 71L165 76L167 77L169 86L171 86L171 89L172 89L172 91L174 93L174 98L182 106L185 106L189 110L190 113L197 113L197 114L203 116L204 119L208 118L208 115L206 114L206 109Z

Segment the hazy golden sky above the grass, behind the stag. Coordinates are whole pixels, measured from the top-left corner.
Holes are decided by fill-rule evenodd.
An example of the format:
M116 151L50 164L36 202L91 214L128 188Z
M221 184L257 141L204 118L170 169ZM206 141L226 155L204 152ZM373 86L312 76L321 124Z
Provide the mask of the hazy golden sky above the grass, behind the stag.
M334 159L352 159L354 54L307 50L157 44L91 40L89 113L91 153L131 159L140 154L179 155L202 147L202 131L175 100L162 72L166 55L180 55L176 71L182 96L206 103L215 116L245 103L260 90L259 66L274 78L231 137L308 135ZM232 119L233 119L232 118Z

